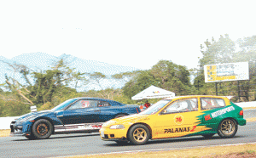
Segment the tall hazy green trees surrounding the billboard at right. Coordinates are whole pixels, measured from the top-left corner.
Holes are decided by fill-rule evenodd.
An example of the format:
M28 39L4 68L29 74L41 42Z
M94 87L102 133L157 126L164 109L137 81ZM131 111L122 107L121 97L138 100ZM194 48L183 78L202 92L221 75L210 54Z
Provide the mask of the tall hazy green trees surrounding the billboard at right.
M237 49L236 43L239 44ZM201 45L201 53L203 57L200 59L201 65L200 76L195 78L194 86L198 90L199 94L215 94L216 87L218 88L218 95L235 95L238 99L238 87L240 88L241 98L245 100L254 100L254 94L252 89L255 89L255 59L256 59L256 36L245 37L243 39L233 42L228 35L220 36L218 41L212 38L212 42L208 40L204 42L204 46ZM223 63L236 63L245 62L249 63L249 78L248 81L234 82L215 82L205 83L203 75L203 65L215 65ZM198 89L199 88L199 89ZM251 93L251 94L250 94ZM253 96L253 97L252 97Z

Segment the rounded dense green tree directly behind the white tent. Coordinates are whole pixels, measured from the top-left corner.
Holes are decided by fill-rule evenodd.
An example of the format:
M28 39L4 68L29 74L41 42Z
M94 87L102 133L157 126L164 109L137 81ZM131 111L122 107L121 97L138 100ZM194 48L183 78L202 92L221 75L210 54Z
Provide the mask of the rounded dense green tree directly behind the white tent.
M169 60L160 60L152 69L140 71L123 87L127 98L154 85L170 90L177 95L190 94L189 71L185 66L176 65Z

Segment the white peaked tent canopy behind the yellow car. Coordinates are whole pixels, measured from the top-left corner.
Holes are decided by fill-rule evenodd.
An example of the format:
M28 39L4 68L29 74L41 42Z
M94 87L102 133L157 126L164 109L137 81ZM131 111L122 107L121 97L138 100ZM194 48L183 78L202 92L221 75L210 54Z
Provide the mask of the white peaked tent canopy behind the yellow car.
M168 98L174 97L175 93L170 91L166 91L160 87L150 86L144 89L141 93L137 93L135 96L131 97L133 100L141 100L141 99L160 99L160 98Z

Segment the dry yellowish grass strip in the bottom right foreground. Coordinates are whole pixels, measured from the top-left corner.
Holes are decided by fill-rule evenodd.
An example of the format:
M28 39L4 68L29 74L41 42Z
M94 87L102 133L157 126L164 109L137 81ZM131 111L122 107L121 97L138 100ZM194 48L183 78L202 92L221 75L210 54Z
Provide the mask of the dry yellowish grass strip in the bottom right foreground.
M236 151L236 152L235 152ZM197 149L187 150L168 150L168 151L146 151L146 152L132 152L125 154L103 154L103 155L76 155L70 156L69 158L166 158L166 157L186 157L186 158L238 158L238 157L256 157L256 144L240 144L240 145L229 145L229 146L214 146L214 147L203 147Z

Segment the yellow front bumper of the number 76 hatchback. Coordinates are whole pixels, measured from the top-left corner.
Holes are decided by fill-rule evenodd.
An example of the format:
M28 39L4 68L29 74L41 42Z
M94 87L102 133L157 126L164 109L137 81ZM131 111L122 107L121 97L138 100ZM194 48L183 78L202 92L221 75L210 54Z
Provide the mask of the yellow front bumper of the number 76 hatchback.
M100 134L102 140L110 140L110 141L116 141L116 140L126 140L126 134L127 134L126 128L124 129L110 129L108 127L102 127L100 129Z

